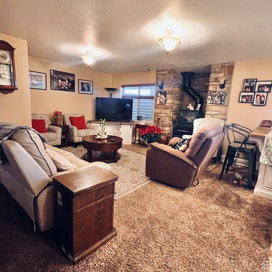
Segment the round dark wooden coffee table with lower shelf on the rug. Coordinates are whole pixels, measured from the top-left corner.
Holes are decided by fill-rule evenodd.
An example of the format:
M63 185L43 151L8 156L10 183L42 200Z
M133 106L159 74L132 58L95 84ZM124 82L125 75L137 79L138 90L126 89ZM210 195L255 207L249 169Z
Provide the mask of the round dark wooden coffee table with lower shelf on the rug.
M87 149L84 159L88 162L117 162L121 154L117 152L122 147L123 139L109 135L108 138L96 139L94 135L82 138L83 147Z

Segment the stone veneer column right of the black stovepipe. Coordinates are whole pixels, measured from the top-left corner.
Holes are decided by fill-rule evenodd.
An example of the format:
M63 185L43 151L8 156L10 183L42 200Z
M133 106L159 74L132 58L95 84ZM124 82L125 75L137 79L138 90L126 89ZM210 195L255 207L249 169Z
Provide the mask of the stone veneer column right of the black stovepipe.
M209 91L226 91L224 104L207 104L205 117L215 117L227 120L228 104L230 102L230 90L232 84L234 63L212 64L209 80ZM225 78L224 89L220 89L219 80Z

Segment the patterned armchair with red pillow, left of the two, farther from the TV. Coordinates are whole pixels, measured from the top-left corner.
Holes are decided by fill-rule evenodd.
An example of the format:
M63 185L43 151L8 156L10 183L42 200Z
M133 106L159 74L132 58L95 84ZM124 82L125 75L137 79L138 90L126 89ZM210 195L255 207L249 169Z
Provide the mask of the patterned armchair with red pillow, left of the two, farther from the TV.
M58 126L50 126L48 115L45 113L31 114L32 128L41 133L51 146L59 146L61 144L61 128Z

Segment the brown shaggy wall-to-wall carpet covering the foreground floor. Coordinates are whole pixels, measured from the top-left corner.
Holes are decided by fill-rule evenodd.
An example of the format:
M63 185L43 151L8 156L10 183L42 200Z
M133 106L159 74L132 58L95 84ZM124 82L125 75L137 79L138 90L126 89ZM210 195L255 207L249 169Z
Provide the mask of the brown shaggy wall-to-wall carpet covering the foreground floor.
M118 165L118 163L117 163ZM181 190L155 181L114 202L117 236L73 266L53 231L33 222L0 184L0 271L244 272L269 261L272 201L218 181L220 168Z

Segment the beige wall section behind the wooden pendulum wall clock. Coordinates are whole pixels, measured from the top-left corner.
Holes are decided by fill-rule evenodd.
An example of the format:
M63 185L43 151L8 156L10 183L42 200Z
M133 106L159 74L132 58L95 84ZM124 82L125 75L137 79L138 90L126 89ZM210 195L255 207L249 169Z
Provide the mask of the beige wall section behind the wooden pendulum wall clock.
M18 90L9 94L0 92L0 120L31 126L27 41L1 33L0 40L15 48L14 62L18 87Z

